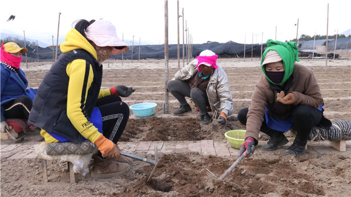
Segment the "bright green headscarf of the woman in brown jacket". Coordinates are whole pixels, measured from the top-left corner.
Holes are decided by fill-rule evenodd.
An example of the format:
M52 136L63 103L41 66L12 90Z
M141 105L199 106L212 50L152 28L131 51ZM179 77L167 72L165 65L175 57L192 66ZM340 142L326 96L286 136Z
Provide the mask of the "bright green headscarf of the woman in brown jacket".
M266 75L267 79L276 85L284 83L288 78L291 76L292 71L294 69L294 63L295 61L300 61L298 59L298 48L295 42L280 42L280 41L274 41L274 40L267 40L267 48L264 51L261 59L261 68L263 70L263 73L266 75L266 69L265 67L262 66L262 63L264 61L264 58L266 57L266 54L270 50L275 50L278 52L280 57L283 59L283 64L284 64L284 77L281 83L273 83Z

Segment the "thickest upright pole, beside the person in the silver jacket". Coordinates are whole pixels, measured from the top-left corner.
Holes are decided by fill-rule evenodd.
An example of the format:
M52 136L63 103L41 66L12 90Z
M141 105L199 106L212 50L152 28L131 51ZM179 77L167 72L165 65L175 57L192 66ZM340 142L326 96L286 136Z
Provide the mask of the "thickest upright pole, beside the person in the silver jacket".
M164 94L163 114L168 113L168 0L164 1Z

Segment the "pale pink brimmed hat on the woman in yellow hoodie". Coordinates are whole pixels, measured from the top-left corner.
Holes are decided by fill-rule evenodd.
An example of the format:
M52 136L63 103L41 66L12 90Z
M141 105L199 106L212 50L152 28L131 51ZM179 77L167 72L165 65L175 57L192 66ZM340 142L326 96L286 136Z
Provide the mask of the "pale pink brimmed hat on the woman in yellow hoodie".
M118 38L115 26L104 19L97 20L88 26L85 30L85 36L99 47L114 47L112 55L125 53L129 49L127 43Z

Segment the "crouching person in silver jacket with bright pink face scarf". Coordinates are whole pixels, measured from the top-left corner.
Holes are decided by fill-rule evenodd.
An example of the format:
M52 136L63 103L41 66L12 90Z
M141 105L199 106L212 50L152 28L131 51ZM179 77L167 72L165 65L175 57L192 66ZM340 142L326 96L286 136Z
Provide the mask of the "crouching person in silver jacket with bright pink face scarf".
M192 111L185 96L191 97L200 111L200 125L208 125L211 117L207 106L212 112L217 110L219 125L227 123L227 116L233 114L233 99L228 83L227 74L216 64L218 56L205 50L196 59L190 62L182 70L174 74L174 78L168 82L167 88L179 101L181 107L173 112L174 116L181 116Z

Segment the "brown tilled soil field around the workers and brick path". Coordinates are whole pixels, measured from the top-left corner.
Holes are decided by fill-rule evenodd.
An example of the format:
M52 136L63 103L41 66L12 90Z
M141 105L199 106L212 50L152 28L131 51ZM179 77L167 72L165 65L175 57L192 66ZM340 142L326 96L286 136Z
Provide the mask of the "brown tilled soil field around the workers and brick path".
M248 61L248 60L247 60ZM335 60L336 61L336 60ZM323 67L323 63L302 60L309 66L318 82L324 98L324 115L331 121L351 121L351 65L349 60L337 60L335 64ZM325 61L321 61L324 62ZM136 91L123 98L128 105L149 101L157 103L155 114L162 114L164 101L163 60L141 60L138 66L129 68L125 61L123 67L105 68L102 86L133 86ZM163 64L162 64L163 63ZM247 67L235 67L236 64ZM158 67L150 68L154 65ZM176 61L171 60L169 80L172 78ZM234 100L234 114L250 106L250 97L255 82L262 75L257 66L259 60L243 62L236 59L221 59L220 65L226 71ZM29 87L38 87L48 69L24 69L29 79ZM169 94L169 113L179 108L174 97ZM192 106L192 114L198 114ZM131 112L132 114L132 112ZM210 126L200 127L198 119L163 119L157 116L134 118L128 121L120 139L122 142L139 141L199 141L214 140L225 142L224 133L229 130L245 129L239 121L228 119L218 132ZM261 133L262 135L262 133ZM23 143L38 144L38 133L27 133ZM267 141L262 135L260 141ZM293 137L286 133L289 141ZM13 143L2 140L2 144ZM256 147L260 150L260 145ZM140 155L145 156L145 155ZM206 173L209 169L218 177L237 159L236 157L203 156L196 152L160 153L160 162L151 181L147 182L153 166L134 161L131 169L121 176L96 179L89 174L78 176L79 182L69 183L67 163L48 162L49 182L42 181L41 160L21 159L2 160L2 196L350 196L350 159L337 154L315 155L306 153L300 158L282 156L273 151L255 153L245 158L225 179L212 180ZM152 154L146 154L153 159Z

